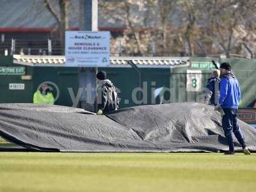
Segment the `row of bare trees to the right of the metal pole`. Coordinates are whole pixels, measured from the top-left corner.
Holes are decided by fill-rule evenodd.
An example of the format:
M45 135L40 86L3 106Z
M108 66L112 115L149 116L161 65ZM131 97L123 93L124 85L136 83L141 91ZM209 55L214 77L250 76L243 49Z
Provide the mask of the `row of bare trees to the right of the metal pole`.
M150 41L156 42L162 56L164 52L180 51L184 42L193 56L199 50L196 40L210 54L223 52L220 44L238 54L243 42L256 47L255 0L125 0L115 6L102 4L113 24L124 23L124 46L131 54L145 54ZM138 11L134 12L138 4L144 12L142 19ZM148 25L150 22L154 24ZM150 35L143 36L141 31L149 31Z

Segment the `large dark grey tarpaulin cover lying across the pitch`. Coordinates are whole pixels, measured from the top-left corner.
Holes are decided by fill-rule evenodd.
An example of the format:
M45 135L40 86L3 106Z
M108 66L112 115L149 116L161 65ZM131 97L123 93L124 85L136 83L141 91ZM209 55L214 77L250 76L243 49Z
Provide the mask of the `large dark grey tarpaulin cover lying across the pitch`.
M256 150L256 130L239 120ZM196 102L137 106L108 115L36 104L0 104L0 135L31 150L219 152L228 150L221 115ZM241 150L235 140L236 150Z

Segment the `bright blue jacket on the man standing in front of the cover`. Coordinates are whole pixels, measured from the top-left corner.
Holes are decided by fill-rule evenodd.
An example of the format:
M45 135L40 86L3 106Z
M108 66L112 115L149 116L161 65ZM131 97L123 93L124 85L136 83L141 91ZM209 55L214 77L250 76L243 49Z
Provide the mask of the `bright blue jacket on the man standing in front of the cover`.
M232 74L228 72L221 78L220 82L220 100L221 108L237 109L239 101L241 100L241 92L239 83Z

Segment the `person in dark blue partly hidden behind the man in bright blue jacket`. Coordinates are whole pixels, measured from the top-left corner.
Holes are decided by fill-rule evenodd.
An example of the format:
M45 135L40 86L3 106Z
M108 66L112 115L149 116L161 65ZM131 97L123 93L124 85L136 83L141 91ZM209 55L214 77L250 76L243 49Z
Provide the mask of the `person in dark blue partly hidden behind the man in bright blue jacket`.
M220 70L212 71L212 77L208 79L205 87L205 104L216 105L220 97Z

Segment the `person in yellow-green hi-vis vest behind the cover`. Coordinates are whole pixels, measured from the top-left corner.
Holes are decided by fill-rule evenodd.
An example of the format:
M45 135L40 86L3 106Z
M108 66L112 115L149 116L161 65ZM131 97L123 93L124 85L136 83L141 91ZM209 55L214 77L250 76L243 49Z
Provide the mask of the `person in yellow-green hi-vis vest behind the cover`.
M54 104L54 96L49 90L48 84L42 84L39 90L34 93L34 104Z

